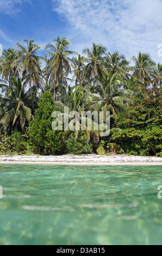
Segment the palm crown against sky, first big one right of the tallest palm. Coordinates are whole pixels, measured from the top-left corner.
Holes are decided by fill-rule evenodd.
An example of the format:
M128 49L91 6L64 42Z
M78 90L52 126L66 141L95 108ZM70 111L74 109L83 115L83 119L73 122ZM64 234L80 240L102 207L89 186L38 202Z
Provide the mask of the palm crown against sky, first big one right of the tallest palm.
M83 72L88 78L93 77L95 79L101 76L103 71L106 72L103 65L103 56L106 54L106 47L93 43L93 47L83 50L83 53L88 57L88 64L83 69Z

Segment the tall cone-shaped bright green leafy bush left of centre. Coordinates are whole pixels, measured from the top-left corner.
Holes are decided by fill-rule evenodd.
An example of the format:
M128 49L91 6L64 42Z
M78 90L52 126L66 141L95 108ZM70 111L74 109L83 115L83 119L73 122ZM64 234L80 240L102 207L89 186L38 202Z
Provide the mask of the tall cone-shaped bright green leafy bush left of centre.
M47 91L42 95L42 101L38 107L35 119L29 124L29 143L36 153L58 154L63 148L62 131L53 131L51 115L59 109L55 107L51 93Z

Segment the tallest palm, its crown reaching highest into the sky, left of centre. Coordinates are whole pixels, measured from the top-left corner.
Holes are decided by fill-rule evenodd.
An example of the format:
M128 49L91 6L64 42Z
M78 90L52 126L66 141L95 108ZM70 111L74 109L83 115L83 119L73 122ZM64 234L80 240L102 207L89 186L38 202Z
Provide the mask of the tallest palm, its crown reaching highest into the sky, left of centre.
M72 63L73 61L68 56L76 54L76 52L68 50L69 45L72 44L72 41L68 41L67 38L60 39L60 37L57 36L57 38L54 39L53 42L54 45L46 45L46 50L50 50L46 53L46 57L50 56L50 60L49 62L47 62L47 66L48 69L54 70L55 76L57 71L59 71L61 76L61 93L63 93L63 69L66 71L67 74L69 74L69 72L71 71L69 63Z

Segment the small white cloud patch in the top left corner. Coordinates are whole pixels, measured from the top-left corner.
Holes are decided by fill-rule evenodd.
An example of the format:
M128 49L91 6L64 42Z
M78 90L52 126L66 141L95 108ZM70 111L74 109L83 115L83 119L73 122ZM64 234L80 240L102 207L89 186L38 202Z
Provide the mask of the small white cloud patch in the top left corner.
M21 4L30 0L0 0L0 12L13 15L21 10Z

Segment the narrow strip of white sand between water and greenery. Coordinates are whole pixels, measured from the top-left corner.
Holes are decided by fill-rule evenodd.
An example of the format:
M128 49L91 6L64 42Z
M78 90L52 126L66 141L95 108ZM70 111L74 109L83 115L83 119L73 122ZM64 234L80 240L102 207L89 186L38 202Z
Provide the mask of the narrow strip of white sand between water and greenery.
M162 157L151 156L0 156L0 164L75 165L75 166L162 166Z

